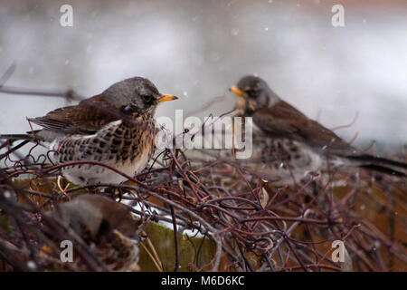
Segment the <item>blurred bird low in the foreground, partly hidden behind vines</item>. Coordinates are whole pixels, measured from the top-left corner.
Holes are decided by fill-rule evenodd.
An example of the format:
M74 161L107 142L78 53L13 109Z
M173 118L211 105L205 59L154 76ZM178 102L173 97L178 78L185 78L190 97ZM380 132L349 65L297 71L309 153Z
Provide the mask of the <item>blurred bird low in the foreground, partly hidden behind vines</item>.
M141 220L135 218L130 209L111 198L83 194L61 203L46 212L48 218L57 219L71 228L90 246L99 259L113 271L138 271L138 232ZM49 222L45 219L44 222ZM47 224L48 225L48 224ZM45 227L46 233L61 243L66 233L55 233L52 227ZM77 245L73 245L77 247ZM47 248L47 247L45 247ZM73 255L73 263L85 264L79 255Z

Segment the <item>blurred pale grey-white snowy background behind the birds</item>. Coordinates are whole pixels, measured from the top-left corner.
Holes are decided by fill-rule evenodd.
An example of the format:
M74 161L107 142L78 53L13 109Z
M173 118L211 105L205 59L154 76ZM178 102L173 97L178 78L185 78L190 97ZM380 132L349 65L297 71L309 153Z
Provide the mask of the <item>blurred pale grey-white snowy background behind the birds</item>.
M60 7L73 7L73 27ZM333 27L336 1L0 1L0 74L8 86L72 88L84 97L144 76L180 101L159 107L230 110L227 92L256 73L280 97L345 140L407 144L407 1L340 1L345 27ZM61 98L0 93L0 133L29 130L25 117L67 105Z

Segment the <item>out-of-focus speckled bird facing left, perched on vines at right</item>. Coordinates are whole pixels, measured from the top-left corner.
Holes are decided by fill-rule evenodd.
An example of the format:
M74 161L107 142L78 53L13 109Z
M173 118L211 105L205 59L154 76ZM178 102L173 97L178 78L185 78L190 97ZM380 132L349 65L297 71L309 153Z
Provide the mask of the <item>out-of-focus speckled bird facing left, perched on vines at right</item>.
M281 100L260 77L246 75L229 91L236 95L236 116L251 117L254 127L253 153L243 163L265 179L291 184L308 172L346 166L406 177L406 163L356 149Z

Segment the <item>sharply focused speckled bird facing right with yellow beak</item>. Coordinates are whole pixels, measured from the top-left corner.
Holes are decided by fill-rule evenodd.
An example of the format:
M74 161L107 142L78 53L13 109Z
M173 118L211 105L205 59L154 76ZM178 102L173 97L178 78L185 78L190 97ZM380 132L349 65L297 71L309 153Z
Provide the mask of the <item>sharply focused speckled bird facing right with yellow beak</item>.
M128 78L77 105L28 119L41 130L0 135L0 139L39 142L62 165L96 161L133 177L147 167L156 149L157 104L176 99L158 92L146 78ZM84 162L62 166L62 176L80 186L127 180L108 167Z

